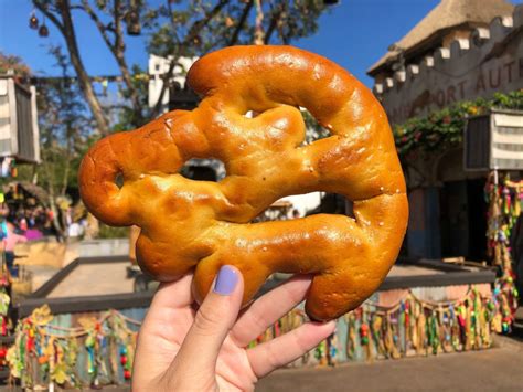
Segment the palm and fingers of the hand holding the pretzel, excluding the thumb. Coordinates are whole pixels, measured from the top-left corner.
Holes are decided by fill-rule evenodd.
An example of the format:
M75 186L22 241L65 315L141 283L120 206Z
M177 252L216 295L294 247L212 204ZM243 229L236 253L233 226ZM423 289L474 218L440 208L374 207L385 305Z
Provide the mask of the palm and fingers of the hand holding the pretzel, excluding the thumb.
M161 380L172 367L195 320L191 280L192 276L185 276L177 283L163 285L156 294L140 330L136 356L135 369L145 371L137 374L135 370L135 377L153 382ZM259 378L303 354L330 335L328 327L308 324L271 342L246 349L249 341L303 299L309 284L307 278L291 279L247 308L221 347L215 373L203 374L207 378L204 384L209 389L253 390ZM202 377L202 372L194 371Z

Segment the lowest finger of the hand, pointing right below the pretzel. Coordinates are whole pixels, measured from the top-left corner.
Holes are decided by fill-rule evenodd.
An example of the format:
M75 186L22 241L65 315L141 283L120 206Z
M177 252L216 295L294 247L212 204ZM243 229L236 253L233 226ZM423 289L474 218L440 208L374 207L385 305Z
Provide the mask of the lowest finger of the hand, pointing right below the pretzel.
M301 327L247 350L247 357L255 375L260 379L300 358L334 332L335 321L325 324L307 322Z

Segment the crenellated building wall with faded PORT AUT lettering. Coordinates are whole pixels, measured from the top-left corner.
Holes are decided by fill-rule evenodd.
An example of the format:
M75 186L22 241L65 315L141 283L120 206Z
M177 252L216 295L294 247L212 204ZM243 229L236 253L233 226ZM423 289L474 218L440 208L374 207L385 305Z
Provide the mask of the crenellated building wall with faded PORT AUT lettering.
M376 84L375 93L391 123L402 124L459 100L523 88L521 22L517 14L494 19L489 29L477 29L470 39L439 47L433 56Z

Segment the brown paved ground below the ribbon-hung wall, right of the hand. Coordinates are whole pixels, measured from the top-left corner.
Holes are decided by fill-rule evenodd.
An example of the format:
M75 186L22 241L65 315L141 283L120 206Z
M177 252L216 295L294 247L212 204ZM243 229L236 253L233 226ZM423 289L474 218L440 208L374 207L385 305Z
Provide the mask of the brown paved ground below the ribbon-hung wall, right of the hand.
M344 364L334 369L285 369L262 380L256 390L523 391L523 343L505 339L501 347L483 351Z

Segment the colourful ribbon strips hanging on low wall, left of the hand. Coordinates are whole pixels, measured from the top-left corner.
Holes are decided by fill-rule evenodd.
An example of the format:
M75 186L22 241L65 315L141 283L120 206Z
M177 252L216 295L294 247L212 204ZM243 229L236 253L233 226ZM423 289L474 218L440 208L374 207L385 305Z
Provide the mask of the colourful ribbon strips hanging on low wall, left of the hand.
M76 328L52 325L49 306L20 320L7 360L24 389L119 384L131 377L140 321L116 310L82 318ZM135 326L131 328L129 325Z

